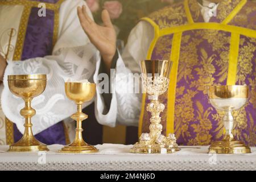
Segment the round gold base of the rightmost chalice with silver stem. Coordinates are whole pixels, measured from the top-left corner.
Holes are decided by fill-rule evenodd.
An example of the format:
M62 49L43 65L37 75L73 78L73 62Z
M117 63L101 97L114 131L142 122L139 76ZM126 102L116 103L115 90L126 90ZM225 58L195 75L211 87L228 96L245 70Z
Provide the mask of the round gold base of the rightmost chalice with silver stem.
M213 142L208 152L215 152L216 154L249 154L251 153L250 147L245 143L239 141L219 141Z

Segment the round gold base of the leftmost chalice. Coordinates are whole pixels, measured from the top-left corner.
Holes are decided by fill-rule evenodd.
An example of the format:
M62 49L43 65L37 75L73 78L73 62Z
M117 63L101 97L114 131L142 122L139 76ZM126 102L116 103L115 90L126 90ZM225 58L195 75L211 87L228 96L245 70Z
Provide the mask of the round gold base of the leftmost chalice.
M23 137L18 142L10 146L9 152L33 152L33 151L49 151L47 145L39 142L36 138Z

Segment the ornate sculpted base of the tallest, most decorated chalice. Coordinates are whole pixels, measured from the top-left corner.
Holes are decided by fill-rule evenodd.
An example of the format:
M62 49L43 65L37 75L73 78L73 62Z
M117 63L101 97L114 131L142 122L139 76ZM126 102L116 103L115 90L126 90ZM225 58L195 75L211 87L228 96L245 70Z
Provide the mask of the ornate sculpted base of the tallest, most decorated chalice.
M176 151L180 151L179 147L168 144L142 144L135 143L130 152L135 154L172 154Z

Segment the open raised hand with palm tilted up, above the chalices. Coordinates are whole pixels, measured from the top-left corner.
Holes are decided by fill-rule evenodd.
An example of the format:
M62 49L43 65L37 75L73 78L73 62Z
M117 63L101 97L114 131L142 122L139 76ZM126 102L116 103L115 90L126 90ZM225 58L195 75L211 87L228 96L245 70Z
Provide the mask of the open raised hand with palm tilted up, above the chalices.
M115 42L117 36L110 16L107 10L102 11L103 26L96 24L88 15L86 7L77 7L80 23L90 41L100 51L101 56L106 65L106 69L110 70L112 59L115 55Z

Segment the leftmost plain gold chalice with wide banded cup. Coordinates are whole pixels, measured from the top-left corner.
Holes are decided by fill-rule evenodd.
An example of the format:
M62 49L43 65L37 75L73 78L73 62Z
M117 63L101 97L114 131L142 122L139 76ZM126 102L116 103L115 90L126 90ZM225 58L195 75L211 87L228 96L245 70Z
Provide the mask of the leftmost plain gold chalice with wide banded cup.
M23 137L10 146L11 152L48 151L46 144L39 142L32 133L31 118L36 114L31 107L32 98L39 96L46 89L46 75L9 75L8 85L11 93L23 98L25 106L20 115L25 118Z

